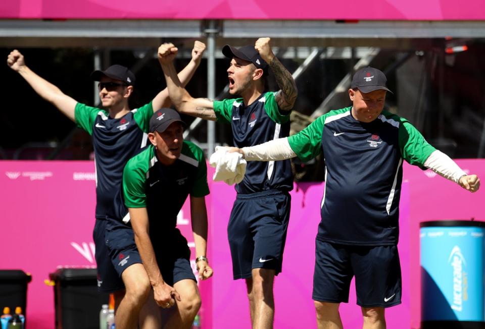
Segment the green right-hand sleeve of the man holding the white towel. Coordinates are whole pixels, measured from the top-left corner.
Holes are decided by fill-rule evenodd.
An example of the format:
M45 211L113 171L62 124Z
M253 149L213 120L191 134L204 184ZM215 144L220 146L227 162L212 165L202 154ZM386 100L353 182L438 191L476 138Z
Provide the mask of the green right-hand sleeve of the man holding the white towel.
M424 169L424 161L436 149L432 147L406 119L400 118L399 147L403 158L411 165Z

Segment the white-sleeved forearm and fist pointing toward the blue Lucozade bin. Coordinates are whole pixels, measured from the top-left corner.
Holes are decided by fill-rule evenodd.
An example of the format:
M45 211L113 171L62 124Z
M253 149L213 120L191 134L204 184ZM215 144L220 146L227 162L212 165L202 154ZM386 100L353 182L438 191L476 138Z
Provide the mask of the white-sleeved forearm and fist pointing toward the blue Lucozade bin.
M476 175L467 175L460 167L445 153L435 150L426 161L424 167L457 183L465 190L476 192L480 188L480 179Z

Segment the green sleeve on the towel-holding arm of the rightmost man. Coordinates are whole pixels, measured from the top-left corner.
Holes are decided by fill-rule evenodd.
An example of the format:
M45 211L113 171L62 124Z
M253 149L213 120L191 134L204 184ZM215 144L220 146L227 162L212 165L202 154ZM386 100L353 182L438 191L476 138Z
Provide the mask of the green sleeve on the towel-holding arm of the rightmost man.
M307 128L289 136L288 143L302 161L308 161L322 152L322 134L325 116L319 117Z

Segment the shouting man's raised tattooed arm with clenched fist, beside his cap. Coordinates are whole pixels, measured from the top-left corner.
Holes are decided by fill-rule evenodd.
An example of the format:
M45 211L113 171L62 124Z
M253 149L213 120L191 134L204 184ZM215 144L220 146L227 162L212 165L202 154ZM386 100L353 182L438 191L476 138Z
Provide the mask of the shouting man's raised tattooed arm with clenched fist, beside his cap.
M259 38L254 47L258 50L261 58L268 63L276 78L276 83L281 89L275 96L278 107L283 111L289 111L293 108L298 96L297 84L288 70L274 56L269 45L270 40L270 38Z

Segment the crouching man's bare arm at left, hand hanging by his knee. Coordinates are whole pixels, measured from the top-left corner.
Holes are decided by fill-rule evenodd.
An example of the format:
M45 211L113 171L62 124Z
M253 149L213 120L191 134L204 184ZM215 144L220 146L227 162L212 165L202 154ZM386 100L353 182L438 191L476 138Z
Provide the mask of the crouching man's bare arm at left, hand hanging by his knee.
M170 307L175 303L174 298L180 300L175 289L165 283L158 267L157 258L150 240L150 227L147 208L128 208L130 222L135 235L135 243L140 253L143 266L147 270L153 287L155 301L161 307Z

